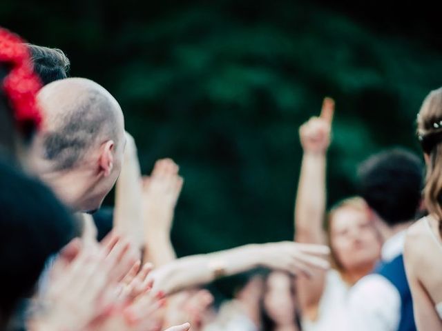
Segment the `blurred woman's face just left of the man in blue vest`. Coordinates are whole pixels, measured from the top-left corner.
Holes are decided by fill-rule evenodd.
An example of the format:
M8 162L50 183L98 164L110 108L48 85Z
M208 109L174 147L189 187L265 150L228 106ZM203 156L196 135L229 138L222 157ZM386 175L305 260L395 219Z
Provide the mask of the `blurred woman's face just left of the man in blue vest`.
M331 245L345 271L372 268L381 255L381 239L368 213L352 207L336 212L330 224Z

